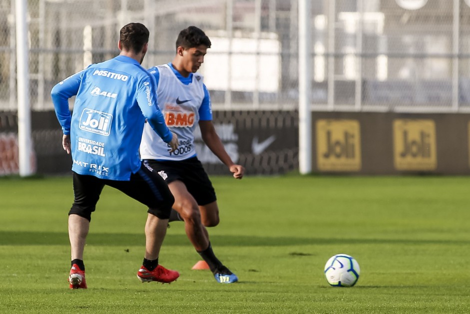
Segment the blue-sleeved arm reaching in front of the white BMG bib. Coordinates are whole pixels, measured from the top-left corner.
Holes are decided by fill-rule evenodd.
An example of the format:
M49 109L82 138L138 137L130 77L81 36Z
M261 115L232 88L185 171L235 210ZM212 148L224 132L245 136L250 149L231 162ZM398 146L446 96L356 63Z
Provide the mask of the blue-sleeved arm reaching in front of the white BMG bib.
M178 137L165 124L163 114L158 108L155 86L155 80L152 76L142 80L137 86L137 103L152 129L165 143L170 145L171 151L174 151L178 148Z

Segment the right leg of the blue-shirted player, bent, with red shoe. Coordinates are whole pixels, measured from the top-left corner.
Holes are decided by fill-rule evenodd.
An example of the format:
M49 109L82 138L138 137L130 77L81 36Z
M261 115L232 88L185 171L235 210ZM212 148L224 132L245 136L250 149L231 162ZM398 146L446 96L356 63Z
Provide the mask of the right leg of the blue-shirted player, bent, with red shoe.
M149 208L145 223L145 255L137 278L141 282L170 283L176 280L179 277L178 272L167 270L158 263L171 205L174 203L165 181L151 168L142 165L138 172L131 175L130 181L111 181L107 185Z

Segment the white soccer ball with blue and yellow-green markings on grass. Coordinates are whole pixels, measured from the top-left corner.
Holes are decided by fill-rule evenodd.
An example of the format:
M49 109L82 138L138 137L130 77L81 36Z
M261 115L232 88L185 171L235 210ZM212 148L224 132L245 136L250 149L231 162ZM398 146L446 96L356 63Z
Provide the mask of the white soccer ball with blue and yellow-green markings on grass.
M358 262L347 254L336 254L325 264L326 280L333 287L353 287L360 272Z

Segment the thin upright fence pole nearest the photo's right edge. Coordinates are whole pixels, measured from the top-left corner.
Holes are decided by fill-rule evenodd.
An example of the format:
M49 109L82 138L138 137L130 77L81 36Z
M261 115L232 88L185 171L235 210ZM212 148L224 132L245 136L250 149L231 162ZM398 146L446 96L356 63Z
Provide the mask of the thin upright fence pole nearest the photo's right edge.
M454 0L454 22L452 27L452 109L459 110L459 52L460 52L460 0Z

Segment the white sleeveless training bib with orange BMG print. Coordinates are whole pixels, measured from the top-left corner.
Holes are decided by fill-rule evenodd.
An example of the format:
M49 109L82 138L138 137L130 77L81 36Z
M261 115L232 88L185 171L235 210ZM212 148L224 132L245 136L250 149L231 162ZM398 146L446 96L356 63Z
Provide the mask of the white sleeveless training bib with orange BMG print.
M168 64L158 65L158 106L170 131L178 135L179 146L170 153L170 146L145 123L140 142L141 159L184 160L196 155L194 131L199 122L199 108L204 99L202 75L193 73L185 85ZM152 71L150 71L152 73Z

